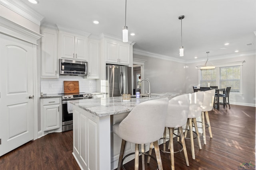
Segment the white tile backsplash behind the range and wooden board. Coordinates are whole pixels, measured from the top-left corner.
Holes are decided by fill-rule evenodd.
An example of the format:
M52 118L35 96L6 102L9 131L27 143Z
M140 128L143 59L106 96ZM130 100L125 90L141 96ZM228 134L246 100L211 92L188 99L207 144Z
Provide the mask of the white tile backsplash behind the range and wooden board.
M64 93L63 81L79 81L79 92L96 92L96 80L80 76L60 76L59 78L41 78L43 94Z

